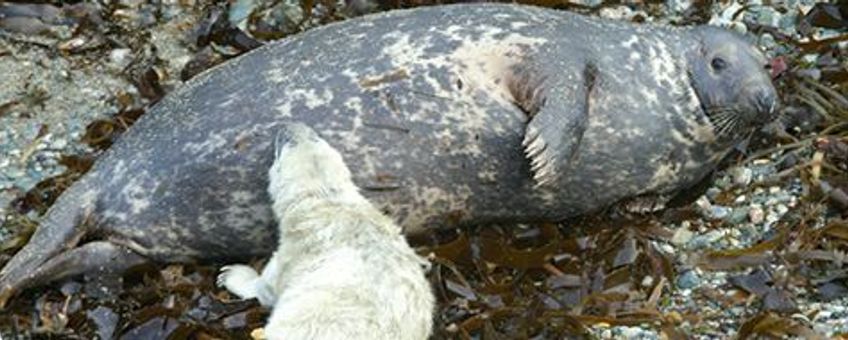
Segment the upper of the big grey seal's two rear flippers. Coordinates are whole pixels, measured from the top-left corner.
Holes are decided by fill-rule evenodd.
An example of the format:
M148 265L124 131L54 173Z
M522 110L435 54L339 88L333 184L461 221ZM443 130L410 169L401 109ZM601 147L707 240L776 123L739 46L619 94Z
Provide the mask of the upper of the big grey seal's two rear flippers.
M27 245L0 270L0 309L17 291L34 283L39 267L56 254L76 246L85 234L80 222L93 204L80 201L84 187L84 183L75 183L61 195Z

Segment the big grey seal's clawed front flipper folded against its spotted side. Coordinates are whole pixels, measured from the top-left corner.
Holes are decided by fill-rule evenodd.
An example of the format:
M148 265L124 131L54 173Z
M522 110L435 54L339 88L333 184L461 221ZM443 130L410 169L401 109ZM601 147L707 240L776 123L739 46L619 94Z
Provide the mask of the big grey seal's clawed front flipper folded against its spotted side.
M597 86L593 64L575 66L572 77L548 77L549 71L535 61L514 67L510 90L516 104L529 116L524 131L524 153L530 161L537 186L556 182L573 160L588 125L591 96Z

